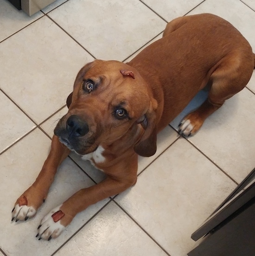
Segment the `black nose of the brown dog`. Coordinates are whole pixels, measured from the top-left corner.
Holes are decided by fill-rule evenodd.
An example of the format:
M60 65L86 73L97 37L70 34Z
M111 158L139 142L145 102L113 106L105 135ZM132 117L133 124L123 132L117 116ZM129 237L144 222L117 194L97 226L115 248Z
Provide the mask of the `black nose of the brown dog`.
M80 137L89 132L89 126L79 116L71 115L66 121L66 130L70 135Z

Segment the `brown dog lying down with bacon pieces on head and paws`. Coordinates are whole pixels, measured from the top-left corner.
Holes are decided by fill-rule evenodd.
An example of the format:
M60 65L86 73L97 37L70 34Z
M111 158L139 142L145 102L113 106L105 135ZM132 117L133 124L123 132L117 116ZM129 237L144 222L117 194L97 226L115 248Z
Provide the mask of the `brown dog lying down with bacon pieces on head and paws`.
M78 212L136 183L138 154L156 152L156 134L199 90L209 83L208 99L180 124L185 136L196 133L207 116L245 87L254 66L246 39L211 14L174 19L162 39L128 64L96 60L85 65L68 97L69 111L55 128L50 154L15 203L13 220L35 215L57 167L74 150L107 178L78 191L42 219L37 237L57 237Z

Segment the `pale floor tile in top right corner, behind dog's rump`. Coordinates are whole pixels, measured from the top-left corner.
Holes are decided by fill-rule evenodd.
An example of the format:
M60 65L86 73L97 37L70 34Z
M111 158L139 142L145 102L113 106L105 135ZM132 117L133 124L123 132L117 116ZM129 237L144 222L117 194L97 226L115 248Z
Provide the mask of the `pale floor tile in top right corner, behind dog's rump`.
M213 13L228 20L255 49L255 12L241 1L206 0L188 15L198 13Z

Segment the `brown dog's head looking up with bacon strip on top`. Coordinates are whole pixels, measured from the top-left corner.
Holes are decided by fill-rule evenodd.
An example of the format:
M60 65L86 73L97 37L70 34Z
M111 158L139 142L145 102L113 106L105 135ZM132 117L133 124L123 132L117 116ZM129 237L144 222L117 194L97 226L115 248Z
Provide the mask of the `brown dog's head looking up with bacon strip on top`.
M78 154L118 141L142 156L156 152L157 101L131 66L102 60L85 65L67 106L54 133Z

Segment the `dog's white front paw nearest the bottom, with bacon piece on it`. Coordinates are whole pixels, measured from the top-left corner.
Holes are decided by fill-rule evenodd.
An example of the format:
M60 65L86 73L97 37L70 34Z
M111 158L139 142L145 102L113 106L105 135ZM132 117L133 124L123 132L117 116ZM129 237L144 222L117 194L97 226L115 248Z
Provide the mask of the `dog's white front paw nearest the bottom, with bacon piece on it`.
M38 240L43 238L50 241L51 238L58 237L71 222L72 218L67 216L63 211L60 210L60 208L61 205L57 206L41 220L41 223L38 226L38 234L36 235Z

